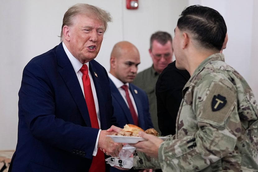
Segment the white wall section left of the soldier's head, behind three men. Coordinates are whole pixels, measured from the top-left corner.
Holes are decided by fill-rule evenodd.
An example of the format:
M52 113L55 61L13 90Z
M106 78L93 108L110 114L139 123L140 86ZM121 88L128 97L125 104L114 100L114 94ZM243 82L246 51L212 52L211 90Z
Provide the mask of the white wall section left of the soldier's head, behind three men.
M128 40L140 51L139 70L152 62L148 54L150 35L158 30L173 35L187 0L139 0L137 10L127 10L126 0L2 0L0 6L0 150L15 149L18 124L18 91L22 71L29 60L60 43L62 18L68 7L89 3L111 13L113 22L96 60L109 71L113 45ZM32 105L33 106L33 105Z

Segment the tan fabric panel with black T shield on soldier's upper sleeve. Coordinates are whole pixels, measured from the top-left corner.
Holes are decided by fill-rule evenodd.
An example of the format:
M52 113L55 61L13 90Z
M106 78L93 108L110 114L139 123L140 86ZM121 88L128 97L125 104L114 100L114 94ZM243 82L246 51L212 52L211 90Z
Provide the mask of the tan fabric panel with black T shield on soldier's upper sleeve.
M222 82L213 82L204 100L199 120L221 126L235 105L235 92Z

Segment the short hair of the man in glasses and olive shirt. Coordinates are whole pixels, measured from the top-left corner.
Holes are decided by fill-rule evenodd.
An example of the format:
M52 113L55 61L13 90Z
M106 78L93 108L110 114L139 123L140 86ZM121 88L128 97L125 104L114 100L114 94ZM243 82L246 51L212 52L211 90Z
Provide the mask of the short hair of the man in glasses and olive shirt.
M150 36L150 50L152 49L152 43L156 40L161 45L165 45L168 41L172 43L172 36L168 32L157 31ZM171 44L172 46L172 44Z

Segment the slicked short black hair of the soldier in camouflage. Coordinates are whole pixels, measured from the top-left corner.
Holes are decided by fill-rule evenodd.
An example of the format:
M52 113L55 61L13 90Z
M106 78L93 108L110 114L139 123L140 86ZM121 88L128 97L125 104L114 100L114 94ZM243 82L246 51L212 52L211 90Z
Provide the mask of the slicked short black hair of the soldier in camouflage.
M185 8L177 21L177 27L181 31L189 31L193 39L207 49L221 50L227 33L221 14L200 5Z

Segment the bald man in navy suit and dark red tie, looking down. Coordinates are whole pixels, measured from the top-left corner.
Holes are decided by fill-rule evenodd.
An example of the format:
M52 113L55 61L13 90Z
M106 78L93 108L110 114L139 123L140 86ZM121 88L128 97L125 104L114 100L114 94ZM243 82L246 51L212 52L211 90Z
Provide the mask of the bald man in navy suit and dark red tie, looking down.
M147 94L139 87L131 84L136 76L138 65L140 64L140 54L135 45L127 41L118 42L114 45L110 57L110 88L112 103L114 107L114 117L117 119L118 126L123 128L125 124L135 124L146 130L153 128L149 113L149 102ZM133 109L136 112L135 122L131 114L129 103L127 101L125 90L128 88ZM114 167L111 172L120 171ZM139 170L129 170L139 171Z

